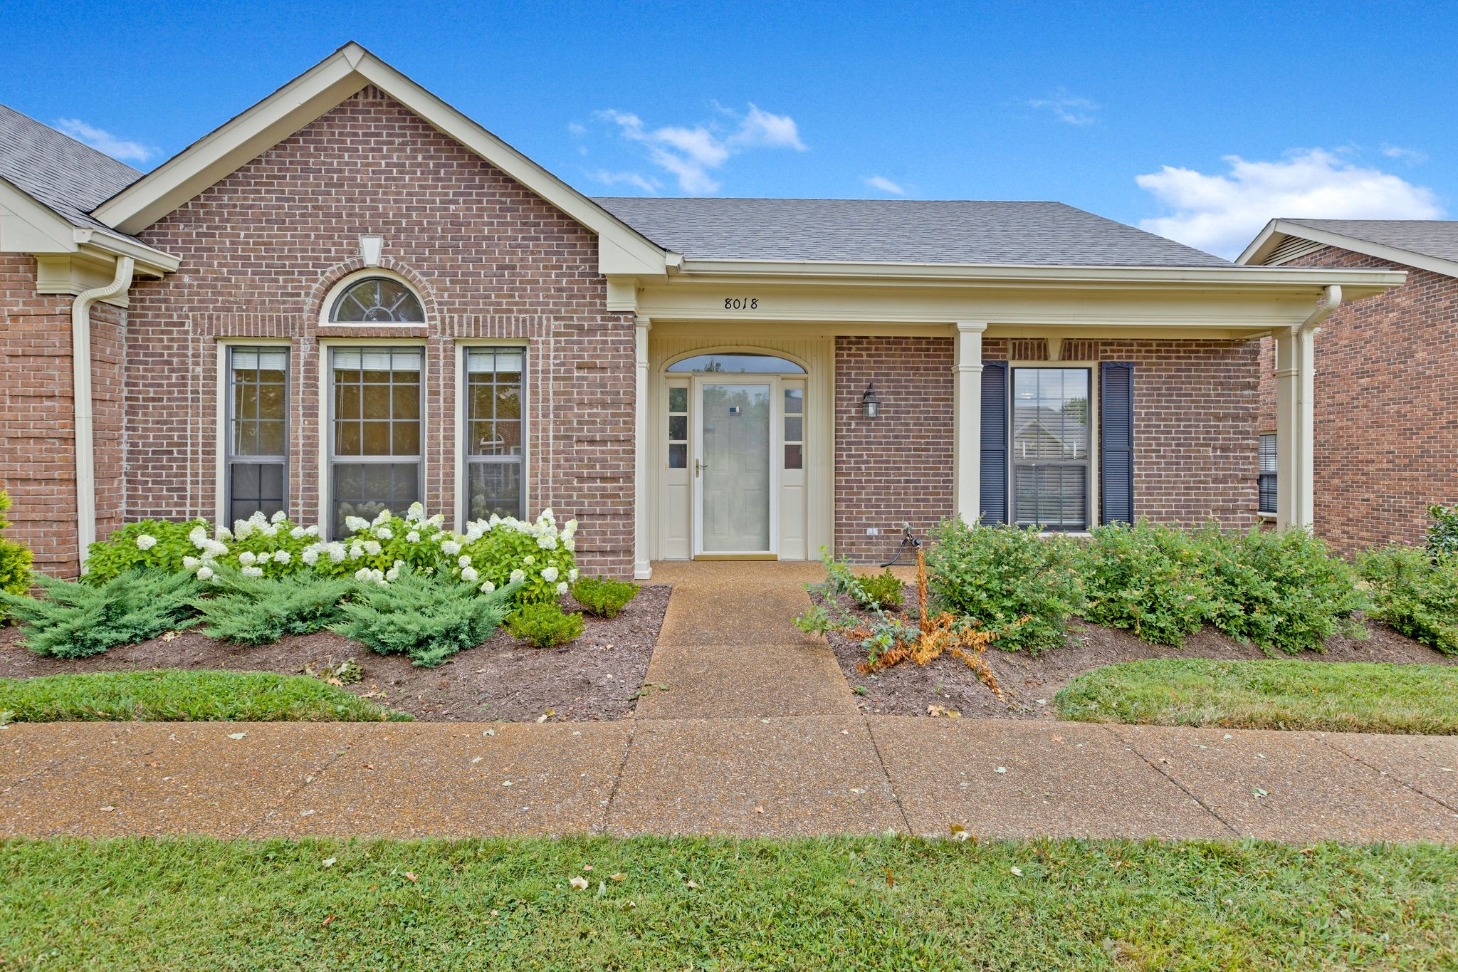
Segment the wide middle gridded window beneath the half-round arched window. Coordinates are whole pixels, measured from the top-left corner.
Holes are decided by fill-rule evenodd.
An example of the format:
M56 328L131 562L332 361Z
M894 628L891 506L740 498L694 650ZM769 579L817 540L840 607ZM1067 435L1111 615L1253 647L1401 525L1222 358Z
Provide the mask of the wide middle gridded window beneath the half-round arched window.
M330 348L330 520L404 514L420 500L424 350Z

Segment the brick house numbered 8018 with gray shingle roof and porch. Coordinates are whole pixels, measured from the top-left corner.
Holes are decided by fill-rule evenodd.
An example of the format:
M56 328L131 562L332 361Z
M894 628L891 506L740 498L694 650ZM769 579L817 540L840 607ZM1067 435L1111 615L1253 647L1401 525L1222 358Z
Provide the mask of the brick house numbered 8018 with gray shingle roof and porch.
M131 519L413 500L550 506L637 577L1248 526L1258 340L1401 281L1056 203L588 198L348 44L146 175L0 112L0 485L51 573Z

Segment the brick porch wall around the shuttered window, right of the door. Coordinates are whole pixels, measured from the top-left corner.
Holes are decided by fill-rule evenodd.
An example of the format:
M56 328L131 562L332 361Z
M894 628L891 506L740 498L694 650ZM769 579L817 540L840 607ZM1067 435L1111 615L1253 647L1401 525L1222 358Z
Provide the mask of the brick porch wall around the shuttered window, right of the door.
M1134 513L1197 526L1255 522L1258 342L1080 340L1064 360L1134 363ZM989 361L1045 360L1042 340L989 338ZM866 382L881 418L859 417ZM1095 375L1094 380L1098 380ZM1096 462L1094 475L1098 475ZM903 522L954 513L952 338L835 340L835 548L885 560ZM878 528L879 536L866 536Z

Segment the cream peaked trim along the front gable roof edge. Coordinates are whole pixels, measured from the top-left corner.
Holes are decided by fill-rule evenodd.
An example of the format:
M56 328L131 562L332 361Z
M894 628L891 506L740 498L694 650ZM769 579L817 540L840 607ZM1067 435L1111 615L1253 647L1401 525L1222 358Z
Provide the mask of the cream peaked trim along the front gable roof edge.
M601 273L666 273L658 245L353 41L102 203L92 216L137 233L367 85L595 232Z

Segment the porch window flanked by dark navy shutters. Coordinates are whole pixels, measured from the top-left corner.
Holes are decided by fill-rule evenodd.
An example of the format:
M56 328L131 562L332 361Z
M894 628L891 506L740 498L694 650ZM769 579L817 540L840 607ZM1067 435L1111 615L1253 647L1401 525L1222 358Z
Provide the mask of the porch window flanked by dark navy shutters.
M1013 517L1018 526L1089 525L1089 370L1012 372Z

